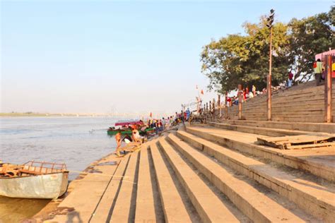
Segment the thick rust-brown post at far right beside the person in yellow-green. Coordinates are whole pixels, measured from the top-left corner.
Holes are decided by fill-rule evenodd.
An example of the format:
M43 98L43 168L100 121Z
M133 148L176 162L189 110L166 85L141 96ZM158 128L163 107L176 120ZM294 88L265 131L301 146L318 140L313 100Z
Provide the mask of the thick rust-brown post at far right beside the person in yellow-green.
M331 91L332 91L332 85L331 85L331 62L332 62L332 55L327 55L324 58L324 63L326 64L326 78L324 78L326 81L324 83L324 121L327 123L331 123L333 120L333 116L331 114Z

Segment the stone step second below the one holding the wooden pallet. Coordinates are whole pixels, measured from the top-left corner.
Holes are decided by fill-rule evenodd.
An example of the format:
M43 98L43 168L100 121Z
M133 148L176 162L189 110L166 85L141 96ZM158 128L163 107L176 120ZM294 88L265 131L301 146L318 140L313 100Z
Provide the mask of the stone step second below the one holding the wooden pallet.
M217 188L254 222L305 222L309 215L298 217L294 210L288 210L277 200L270 198L267 193L260 193L254 185L235 176L228 167L222 167L218 162L194 149L175 135L168 136L170 143L187 158L189 162L204 174ZM301 214L301 212L300 212Z

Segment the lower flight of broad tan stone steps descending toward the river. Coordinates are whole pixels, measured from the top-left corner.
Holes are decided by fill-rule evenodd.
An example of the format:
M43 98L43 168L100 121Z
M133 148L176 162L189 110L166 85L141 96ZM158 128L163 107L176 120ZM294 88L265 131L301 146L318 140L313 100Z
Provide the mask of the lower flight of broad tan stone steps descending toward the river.
M87 191L95 199L80 204L75 189L59 207L83 222L335 222L334 147L278 150L255 141L315 132L237 127L187 125L156 138L120 159L103 190Z

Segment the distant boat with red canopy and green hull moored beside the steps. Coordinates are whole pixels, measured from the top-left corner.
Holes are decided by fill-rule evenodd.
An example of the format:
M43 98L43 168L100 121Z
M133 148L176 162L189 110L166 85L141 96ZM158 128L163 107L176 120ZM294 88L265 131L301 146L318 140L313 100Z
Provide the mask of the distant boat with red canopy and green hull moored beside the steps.
M131 126L138 126L139 127L139 133L141 135L145 135L146 133L151 133L154 131L153 128L143 128L144 123L143 121L119 121L114 124L114 127L110 127L107 129L107 134L108 135L116 135L119 131L121 132L122 135L131 135L132 133L132 128Z

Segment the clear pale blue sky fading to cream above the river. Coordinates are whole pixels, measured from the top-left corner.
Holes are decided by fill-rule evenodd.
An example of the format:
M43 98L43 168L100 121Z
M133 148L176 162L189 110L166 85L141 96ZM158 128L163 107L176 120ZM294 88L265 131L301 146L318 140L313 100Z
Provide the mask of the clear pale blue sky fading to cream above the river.
M0 0L1 112L172 112L217 97L201 48L276 20L328 12L332 1Z

